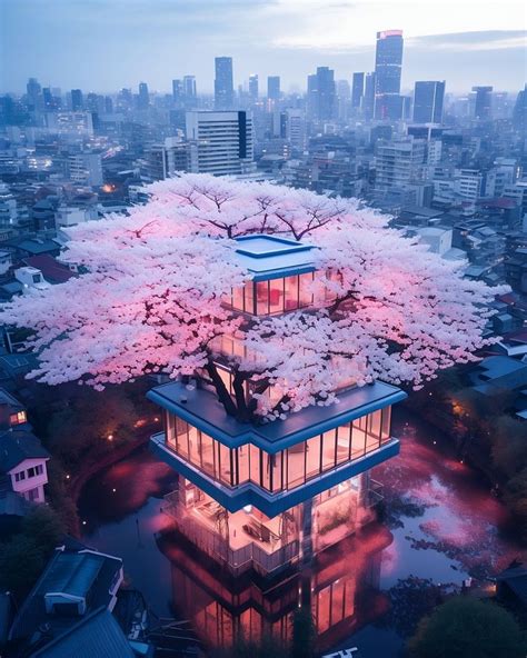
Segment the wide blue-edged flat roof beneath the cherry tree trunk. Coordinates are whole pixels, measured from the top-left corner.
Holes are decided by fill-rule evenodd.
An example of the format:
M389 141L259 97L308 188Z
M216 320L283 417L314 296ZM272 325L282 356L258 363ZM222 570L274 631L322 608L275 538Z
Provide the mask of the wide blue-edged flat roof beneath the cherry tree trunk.
M239 422L227 415L212 392L199 388L188 390L179 381L158 386L147 397L226 446L236 448L243 443L253 443L275 453L349 420L399 402L407 395L395 386L376 381L342 391L334 405L312 405L289 413L285 420L261 425Z

